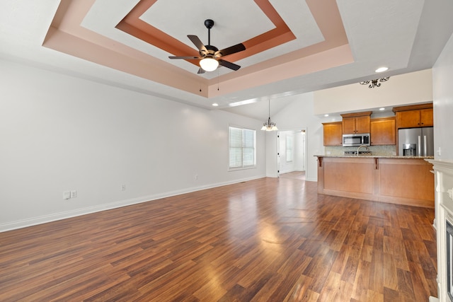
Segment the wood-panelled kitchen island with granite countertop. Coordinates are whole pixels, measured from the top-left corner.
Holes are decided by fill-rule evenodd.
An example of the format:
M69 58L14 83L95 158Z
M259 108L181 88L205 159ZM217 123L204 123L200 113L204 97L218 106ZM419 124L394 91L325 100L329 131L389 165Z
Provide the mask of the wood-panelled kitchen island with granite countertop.
M432 156L316 157L319 194L434 207Z

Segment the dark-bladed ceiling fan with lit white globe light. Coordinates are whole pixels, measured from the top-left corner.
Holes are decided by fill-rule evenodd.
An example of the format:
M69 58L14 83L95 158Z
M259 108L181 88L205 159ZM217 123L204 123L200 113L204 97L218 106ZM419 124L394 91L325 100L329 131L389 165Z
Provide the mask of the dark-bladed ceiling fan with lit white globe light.
M196 35L187 35L189 40L197 47L200 57L168 57L170 59L200 59L200 69L198 74L204 74L205 71L214 71L219 65L225 66L234 71L241 68L241 66L221 59L229 54L242 52L246 47L242 44L236 44L231 47L226 47L224 50L218 50L217 47L211 45L211 28L214 26L214 21L211 19L205 20L207 28L207 45L203 45L201 40Z

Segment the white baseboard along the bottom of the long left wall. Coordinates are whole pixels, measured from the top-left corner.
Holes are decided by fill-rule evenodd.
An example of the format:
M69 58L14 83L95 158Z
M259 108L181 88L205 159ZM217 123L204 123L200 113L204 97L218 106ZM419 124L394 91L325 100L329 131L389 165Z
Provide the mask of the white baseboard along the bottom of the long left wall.
M165 198L165 197L171 197L171 196L176 196L176 195L180 195L180 194L210 189L213 187L222 187L224 185L233 185L235 183L244 182L244 181L248 181L248 180L255 180L258 178L265 178L265 176L262 175L262 176L258 176L256 178L243 178L240 180L234 180L234 181L230 181L230 182L217 182L217 183L210 184L210 185L189 187L184 190L175 190L175 191L171 191L171 192L164 192L161 194L154 194L154 195L148 195L148 196L137 197L137 198L132 198L132 199L119 200L116 202L109 202L108 204L99 204L99 205L96 205L93 207L84 207L81 209L74 209L71 211L64 211L64 212L53 213L53 214L48 214L48 215L44 215L44 216L32 217L30 219L21 219L18 221L1 223L0 224L0 233L6 232L6 231L12 231L12 230L15 230L18 228L26 228L28 226L36 226L36 225L42 224L42 223L47 223L47 222L52 222L52 221L57 221L57 220L62 220L62 219L68 219L68 218L75 217L75 216L96 213L98 211L105 211L105 210L109 210L109 209L126 207L126 206L130 206L132 204L139 204L142 202L150 202L150 201L156 200L156 199L161 199L161 198Z

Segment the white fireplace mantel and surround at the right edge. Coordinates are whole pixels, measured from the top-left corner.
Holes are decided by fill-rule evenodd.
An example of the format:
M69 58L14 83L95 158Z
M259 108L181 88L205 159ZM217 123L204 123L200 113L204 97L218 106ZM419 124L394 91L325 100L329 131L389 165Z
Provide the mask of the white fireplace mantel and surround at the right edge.
M453 224L453 161L426 160L435 174L435 220L437 231L437 296L430 302L451 301L447 287L447 221Z

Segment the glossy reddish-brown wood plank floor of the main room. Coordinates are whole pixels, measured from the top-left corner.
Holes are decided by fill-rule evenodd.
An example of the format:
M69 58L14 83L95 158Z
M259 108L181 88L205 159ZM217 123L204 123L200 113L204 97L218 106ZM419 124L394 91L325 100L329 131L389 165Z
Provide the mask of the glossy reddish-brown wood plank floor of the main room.
M263 178L0 233L0 301L428 301L433 209Z

